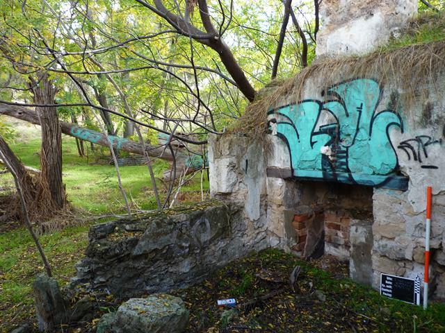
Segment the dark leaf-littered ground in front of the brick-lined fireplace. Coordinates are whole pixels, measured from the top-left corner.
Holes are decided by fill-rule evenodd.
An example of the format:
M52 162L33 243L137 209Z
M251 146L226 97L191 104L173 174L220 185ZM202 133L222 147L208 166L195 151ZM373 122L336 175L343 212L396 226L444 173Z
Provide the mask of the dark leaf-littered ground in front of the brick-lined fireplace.
M296 265L301 271L291 289ZM347 271L326 257L305 262L269 249L174 293L191 311L187 332L445 332L443 303L423 311L345 278ZM230 316L216 305L225 298L238 304Z

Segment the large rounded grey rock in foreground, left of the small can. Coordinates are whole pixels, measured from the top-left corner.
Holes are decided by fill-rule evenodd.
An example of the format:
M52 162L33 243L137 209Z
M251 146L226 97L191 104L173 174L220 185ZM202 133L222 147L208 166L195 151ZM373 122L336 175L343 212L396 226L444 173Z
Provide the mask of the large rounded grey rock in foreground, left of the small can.
M188 310L181 298L156 293L147 298L131 298L115 314L105 314L97 333L181 333L188 323Z

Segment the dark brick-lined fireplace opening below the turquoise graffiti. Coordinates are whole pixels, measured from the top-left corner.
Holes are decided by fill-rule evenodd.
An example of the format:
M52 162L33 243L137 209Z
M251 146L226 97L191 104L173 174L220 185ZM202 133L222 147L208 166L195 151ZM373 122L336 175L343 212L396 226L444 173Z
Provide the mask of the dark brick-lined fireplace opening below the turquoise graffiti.
M300 181L293 217L293 251L306 259L323 254L350 262L350 275L371 284L373 187Z

